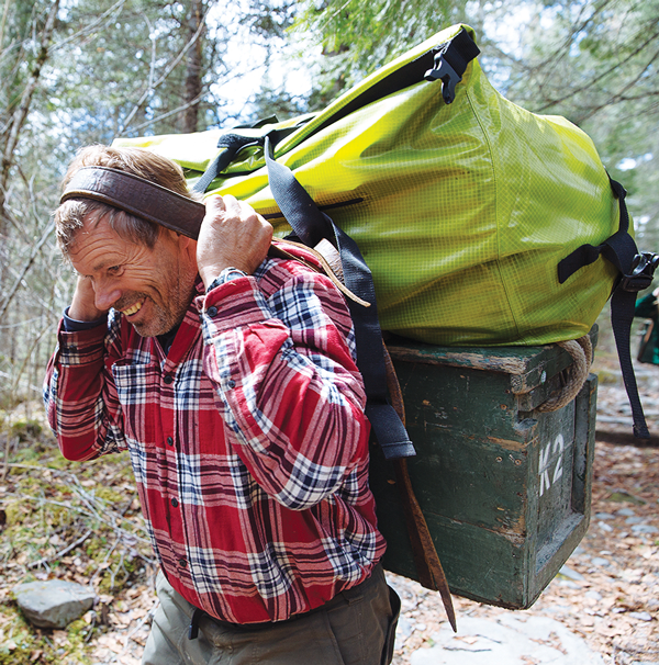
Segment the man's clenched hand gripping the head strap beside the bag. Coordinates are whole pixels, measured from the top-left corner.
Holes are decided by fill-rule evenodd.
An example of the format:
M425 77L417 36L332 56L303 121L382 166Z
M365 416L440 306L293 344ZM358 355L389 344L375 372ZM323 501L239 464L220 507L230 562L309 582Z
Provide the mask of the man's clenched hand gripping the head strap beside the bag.
M197 266L208 289L225 268L252 274L268 253L272 227L232 195L209 196L205 206L197 244Z

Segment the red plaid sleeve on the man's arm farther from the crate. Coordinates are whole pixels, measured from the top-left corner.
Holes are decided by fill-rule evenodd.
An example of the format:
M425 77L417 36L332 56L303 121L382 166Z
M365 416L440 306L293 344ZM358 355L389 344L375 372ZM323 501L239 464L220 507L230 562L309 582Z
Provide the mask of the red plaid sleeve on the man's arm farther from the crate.
M63 318L44 380L48 422L62 454L74 461L126 448L110 370L116 351L114 328L102 320L92 323L96 325L68 330Z

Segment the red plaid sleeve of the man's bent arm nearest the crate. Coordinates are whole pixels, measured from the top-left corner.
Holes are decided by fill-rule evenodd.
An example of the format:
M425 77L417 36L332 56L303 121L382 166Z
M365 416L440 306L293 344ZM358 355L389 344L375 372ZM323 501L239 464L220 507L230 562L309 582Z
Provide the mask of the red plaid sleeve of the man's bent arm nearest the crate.
M209 291L202 318L204 371L256 482L295 510L331 496L368 455L343 295L311 270L294 271L270 294L244 277Z

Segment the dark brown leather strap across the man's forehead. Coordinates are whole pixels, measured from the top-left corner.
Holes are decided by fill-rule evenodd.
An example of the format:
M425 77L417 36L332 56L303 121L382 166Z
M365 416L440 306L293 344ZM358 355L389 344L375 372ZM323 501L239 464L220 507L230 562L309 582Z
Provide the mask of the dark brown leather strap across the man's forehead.
M199 237L205 206L165 187L109 167L82 167L66 185L59 203L92 199L159 224L193 240Z

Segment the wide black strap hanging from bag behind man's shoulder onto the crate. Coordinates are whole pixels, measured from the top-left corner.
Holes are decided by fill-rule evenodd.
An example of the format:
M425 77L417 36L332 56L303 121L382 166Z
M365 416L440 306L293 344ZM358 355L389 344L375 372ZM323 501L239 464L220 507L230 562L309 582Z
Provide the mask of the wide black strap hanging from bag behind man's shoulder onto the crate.
M330 240L340 255L346 286L370 303L370 307L364 307L348 300L355 325L357 365L367 395L366 415L388 460L413 457L416 453L407 431L388 401L382 332L370 269L355 240L319 210L288 167L275 161L269 138L266 138L265 153L270 190L295 236L310 247L323 238Z

